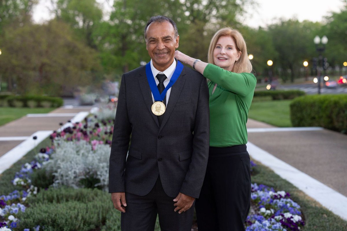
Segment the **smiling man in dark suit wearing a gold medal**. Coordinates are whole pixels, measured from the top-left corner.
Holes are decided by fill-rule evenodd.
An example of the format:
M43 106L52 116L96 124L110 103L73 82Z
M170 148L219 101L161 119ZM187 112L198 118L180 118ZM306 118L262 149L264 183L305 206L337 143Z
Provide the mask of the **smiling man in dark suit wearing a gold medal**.
M161 230L190 231L208 160L208 87L174 59L179 35L172 19L152 17L145 39L151 62L121 80L109 193L122 231L154 230L157 214Z

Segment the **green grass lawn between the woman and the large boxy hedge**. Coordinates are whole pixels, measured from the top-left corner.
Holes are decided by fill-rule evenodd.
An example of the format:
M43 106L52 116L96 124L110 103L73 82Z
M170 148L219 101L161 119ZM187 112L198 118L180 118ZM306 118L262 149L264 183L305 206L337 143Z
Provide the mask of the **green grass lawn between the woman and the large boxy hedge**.
M290 99L258 100L254 98L249 109L248 118L278 127L291 127L290 103Z

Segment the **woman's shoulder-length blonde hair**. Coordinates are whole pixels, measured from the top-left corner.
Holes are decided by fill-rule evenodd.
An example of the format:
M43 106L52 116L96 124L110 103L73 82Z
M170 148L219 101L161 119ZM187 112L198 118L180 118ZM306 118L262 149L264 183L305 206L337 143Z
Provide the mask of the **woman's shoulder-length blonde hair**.
M215 45L217 44L218 39L221 36L230 36L232 39L234 39L237 51L241 52L240 58L238 59L238 61L235 62L234 67L232 68L231 71L235 73L243 73L243 72L251 73L252 64L248 59L245 39L243 38L242 34L238 30L232 29L230 27L224 27L218 30L213 35L213 38L211 40L210 47L209 47L208 62L215 64L213 61L213 50Z

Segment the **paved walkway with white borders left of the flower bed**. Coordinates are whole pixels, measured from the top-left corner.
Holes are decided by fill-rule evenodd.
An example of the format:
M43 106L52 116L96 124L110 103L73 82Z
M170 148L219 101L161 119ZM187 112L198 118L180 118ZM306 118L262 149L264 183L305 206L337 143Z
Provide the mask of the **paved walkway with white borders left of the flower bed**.
M68 121L79 122L91 106L64 106L47 114L28 114L0 126L0 174ZM33 140L33 136L37 136Z

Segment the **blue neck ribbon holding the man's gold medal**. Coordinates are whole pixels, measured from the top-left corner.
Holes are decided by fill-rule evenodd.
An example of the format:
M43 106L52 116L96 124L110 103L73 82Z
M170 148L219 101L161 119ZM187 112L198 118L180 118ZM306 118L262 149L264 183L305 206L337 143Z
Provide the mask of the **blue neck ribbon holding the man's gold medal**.
M150 85L150 88L151 88L151 91L152 91L152 94L154 97L154 101L163 101L164 100L166 92L170 89L170 87L172 87L172 85L174 85L174 83L178 79L179 75L181 74L182 70L183 70L183 64L177 60L176 69L174 71L174 74L172 74L172 77L170 79L169 84L166 86L166 88L160 94L158 87L155 84L154 76L153 76L152 69L151 69L151 62L146 64L147 81L148 81L148 84Z

